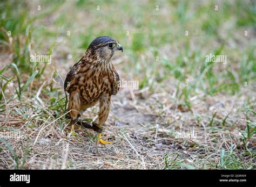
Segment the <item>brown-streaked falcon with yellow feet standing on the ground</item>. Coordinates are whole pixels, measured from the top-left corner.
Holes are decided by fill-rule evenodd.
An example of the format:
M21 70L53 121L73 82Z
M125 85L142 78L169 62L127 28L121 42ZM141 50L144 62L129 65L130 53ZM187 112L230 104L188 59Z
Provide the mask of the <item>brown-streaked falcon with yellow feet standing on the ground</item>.
M110 112L112 95L119 91L119 75L111 63L115 51L122 51L118 41L109 36L98 37L91 42L80 59L66 76L64 90L69 93L71 132L78 121L80 111L95 105L99 101L98 126L101 128ZM101 139L97 142L110 144Z

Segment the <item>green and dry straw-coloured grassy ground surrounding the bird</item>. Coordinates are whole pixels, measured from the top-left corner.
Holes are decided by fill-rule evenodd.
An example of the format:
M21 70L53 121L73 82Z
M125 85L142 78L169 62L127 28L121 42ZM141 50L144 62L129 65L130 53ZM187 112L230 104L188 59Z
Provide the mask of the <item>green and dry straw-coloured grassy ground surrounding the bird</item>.
M255 169L255 10L252 1L1 2L0 132L23 135L0 139L0 168ZM96 147L83 127L68 137L63 80L99 35L123 45L113 63L139 90L112 97L104 136L114 143ZM31 63L34 54L52 61ZM196 138L177 136L192 130Z

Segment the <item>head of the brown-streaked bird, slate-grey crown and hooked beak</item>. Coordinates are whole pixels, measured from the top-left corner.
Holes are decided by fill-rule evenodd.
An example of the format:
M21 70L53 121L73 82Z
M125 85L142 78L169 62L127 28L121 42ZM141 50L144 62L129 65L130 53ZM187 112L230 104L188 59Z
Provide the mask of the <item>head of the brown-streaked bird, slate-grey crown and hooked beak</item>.
M96 57L100 61L107 62L111 60L115 51L123 52L123 47L116 39L109 36L94 39L87 48L87 52L90 52L93 59Z

